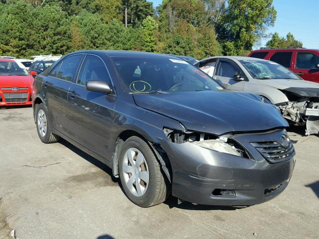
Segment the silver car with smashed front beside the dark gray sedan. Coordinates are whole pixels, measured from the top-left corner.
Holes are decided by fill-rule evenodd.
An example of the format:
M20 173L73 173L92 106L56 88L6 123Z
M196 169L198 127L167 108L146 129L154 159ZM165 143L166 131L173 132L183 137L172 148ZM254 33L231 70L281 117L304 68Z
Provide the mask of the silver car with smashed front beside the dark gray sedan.
M291 124L306 124L306 134L319 133L319 84L259 58L216 56L196 66L227 89L258 94L275 104Z

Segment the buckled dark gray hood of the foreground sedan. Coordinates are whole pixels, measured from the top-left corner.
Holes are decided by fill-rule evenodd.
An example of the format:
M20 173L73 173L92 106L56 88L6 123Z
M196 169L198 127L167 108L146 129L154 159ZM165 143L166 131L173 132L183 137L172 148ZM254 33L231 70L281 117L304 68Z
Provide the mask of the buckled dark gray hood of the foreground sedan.
M288 126L274 105L249 93L201 91L133 97L138 106L176 119L188 130L219 135Z

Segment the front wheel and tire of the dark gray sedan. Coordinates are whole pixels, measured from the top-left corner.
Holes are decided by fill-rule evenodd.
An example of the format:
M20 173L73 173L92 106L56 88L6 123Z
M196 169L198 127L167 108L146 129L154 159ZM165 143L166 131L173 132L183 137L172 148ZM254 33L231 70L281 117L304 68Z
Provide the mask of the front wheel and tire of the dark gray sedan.
M142 153L144 157L144 163L142 164L139 163L142 161L140 159L140 157L142 157L140 153ZM134 160L134 165L131 165L131 168L128 156L130 154L133 155L131 160ZM137 165L137 163L140 165ZM139 172L136 172L136 170ZM142 178L146 178L146 172L148 172L149 175L148 183L146 183L147 180L142 180ZM140 207L147 208L158 205L164 202L170 194L171 186L160 170L159 161L148 143L140 137L132 136L124 142L119 158L119 174L126 196ZM131 177L135 177L135 179L130 180ZM133 186L130 183L132 181L135 182ZM139 181L140 183L137 184ZM139 188L142 188L142 194L141 189L138 190L137 185Z

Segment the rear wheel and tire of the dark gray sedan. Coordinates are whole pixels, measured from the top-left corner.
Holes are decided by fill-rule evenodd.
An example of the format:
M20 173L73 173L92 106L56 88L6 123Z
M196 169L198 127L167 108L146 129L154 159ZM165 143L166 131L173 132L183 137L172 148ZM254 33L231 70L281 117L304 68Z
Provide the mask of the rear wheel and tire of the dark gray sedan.
M56 143L59 136L51 131L51 123L43 103L35 106L36 131L43 143Z

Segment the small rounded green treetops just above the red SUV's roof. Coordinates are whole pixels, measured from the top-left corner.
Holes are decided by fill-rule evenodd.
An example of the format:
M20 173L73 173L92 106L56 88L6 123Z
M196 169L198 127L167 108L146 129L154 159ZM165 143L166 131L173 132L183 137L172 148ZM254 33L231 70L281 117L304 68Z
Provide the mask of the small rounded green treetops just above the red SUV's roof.
M294 35L291 32L288 32L286 38L280 37L278 32L275 32L272 35L272 38L267 41L267 47L272 48L286 48L286 47L303 47L303 43L295 39Z

